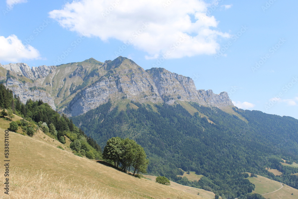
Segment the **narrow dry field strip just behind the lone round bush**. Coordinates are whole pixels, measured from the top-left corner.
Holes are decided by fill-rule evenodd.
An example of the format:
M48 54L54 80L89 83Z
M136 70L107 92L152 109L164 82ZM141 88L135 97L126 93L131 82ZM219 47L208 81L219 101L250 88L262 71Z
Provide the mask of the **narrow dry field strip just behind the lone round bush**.
M153 175L144 175L144 177L151 179L153 182L155 182L155 179L156 179L156 176L153 176ZM213 199L215 197L215 194L213 192L209 192L204 189L198 189L195 187L184 186L173 181L170 181L170 182L171 184L169 185L169 187L173 187L174 189L185 191L194 195L197 195L199 192L200 193L199 196L204 199L211 199L211 198Z

